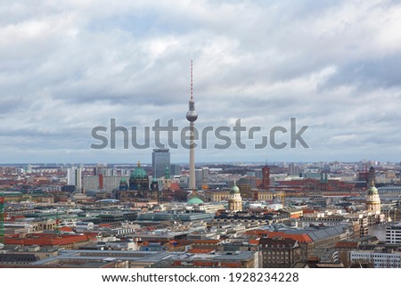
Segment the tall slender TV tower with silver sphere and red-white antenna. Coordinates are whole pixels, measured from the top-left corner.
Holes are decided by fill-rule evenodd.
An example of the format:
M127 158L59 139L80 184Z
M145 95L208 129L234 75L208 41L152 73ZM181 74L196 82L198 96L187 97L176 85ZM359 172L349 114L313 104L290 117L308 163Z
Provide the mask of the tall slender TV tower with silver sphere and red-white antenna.
M193 89L192 89L192 60L191 60L191 99L188 102L189 111L186 112L186 119L190 122L190 182L189 188L192 191L196 190L195 182L195 147L194 147L194 127L195 120L198 118L198 113L195 111L195 102L193 101Z

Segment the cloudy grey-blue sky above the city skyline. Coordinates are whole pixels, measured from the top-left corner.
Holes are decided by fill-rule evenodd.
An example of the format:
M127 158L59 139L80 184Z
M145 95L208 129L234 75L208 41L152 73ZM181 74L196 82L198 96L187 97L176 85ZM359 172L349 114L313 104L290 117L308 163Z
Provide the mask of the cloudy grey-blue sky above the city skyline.
M191 60L195 127L247 130L245 149L210 133L198 162L399 162L400 29L401 4L385 0L0 1L0 163L151 162L153 133L126 149L117 132L111 149L111 118L138 143L172 119L171 161L186 162ZM308 148L291 148L291 118ZM288 144L256 149L277 127Z

